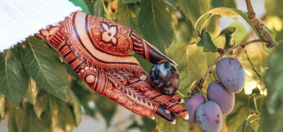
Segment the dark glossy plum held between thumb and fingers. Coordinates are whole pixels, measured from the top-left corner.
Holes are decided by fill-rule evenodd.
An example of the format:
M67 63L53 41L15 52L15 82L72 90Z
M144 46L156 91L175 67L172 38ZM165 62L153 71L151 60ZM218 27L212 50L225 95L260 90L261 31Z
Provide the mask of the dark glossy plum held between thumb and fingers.
M172 95L178 90L180 76L177 68L170 62L154 64L149 72L152 86L159 92Z

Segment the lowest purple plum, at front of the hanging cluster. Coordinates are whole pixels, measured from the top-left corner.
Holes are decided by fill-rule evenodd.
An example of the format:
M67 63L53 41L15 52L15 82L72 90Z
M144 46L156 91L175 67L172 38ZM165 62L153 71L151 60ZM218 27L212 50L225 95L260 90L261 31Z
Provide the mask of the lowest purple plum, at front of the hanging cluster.
M196 117L204 132L219 132L222 127L221 109L214 101L202 103L196 111Z

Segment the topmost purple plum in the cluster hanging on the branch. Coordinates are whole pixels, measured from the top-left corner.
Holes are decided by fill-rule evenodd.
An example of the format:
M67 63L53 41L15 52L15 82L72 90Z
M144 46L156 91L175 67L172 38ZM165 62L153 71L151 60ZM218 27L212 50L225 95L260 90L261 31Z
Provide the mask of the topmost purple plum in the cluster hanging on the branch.
M242 63L233 57L226 57L216 64L216 75L223 86L233 93L243 89L245 73Z

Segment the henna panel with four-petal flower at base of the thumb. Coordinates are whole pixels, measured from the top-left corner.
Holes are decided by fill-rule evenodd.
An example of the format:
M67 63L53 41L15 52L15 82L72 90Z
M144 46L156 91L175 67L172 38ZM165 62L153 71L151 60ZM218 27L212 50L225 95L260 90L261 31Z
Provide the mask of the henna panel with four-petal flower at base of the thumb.
M133 56L128 50L129 27L109 19L86 15L85 28L92 45L99 51L118 57Z

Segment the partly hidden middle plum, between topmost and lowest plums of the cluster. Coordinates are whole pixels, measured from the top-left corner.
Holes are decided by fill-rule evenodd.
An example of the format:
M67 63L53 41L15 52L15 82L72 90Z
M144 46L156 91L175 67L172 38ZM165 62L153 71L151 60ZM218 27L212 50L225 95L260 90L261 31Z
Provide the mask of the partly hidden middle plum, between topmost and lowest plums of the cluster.
M209 83L207 99L216 102L224 115L231 113L234 108L235 94L227 90L221 82Z

